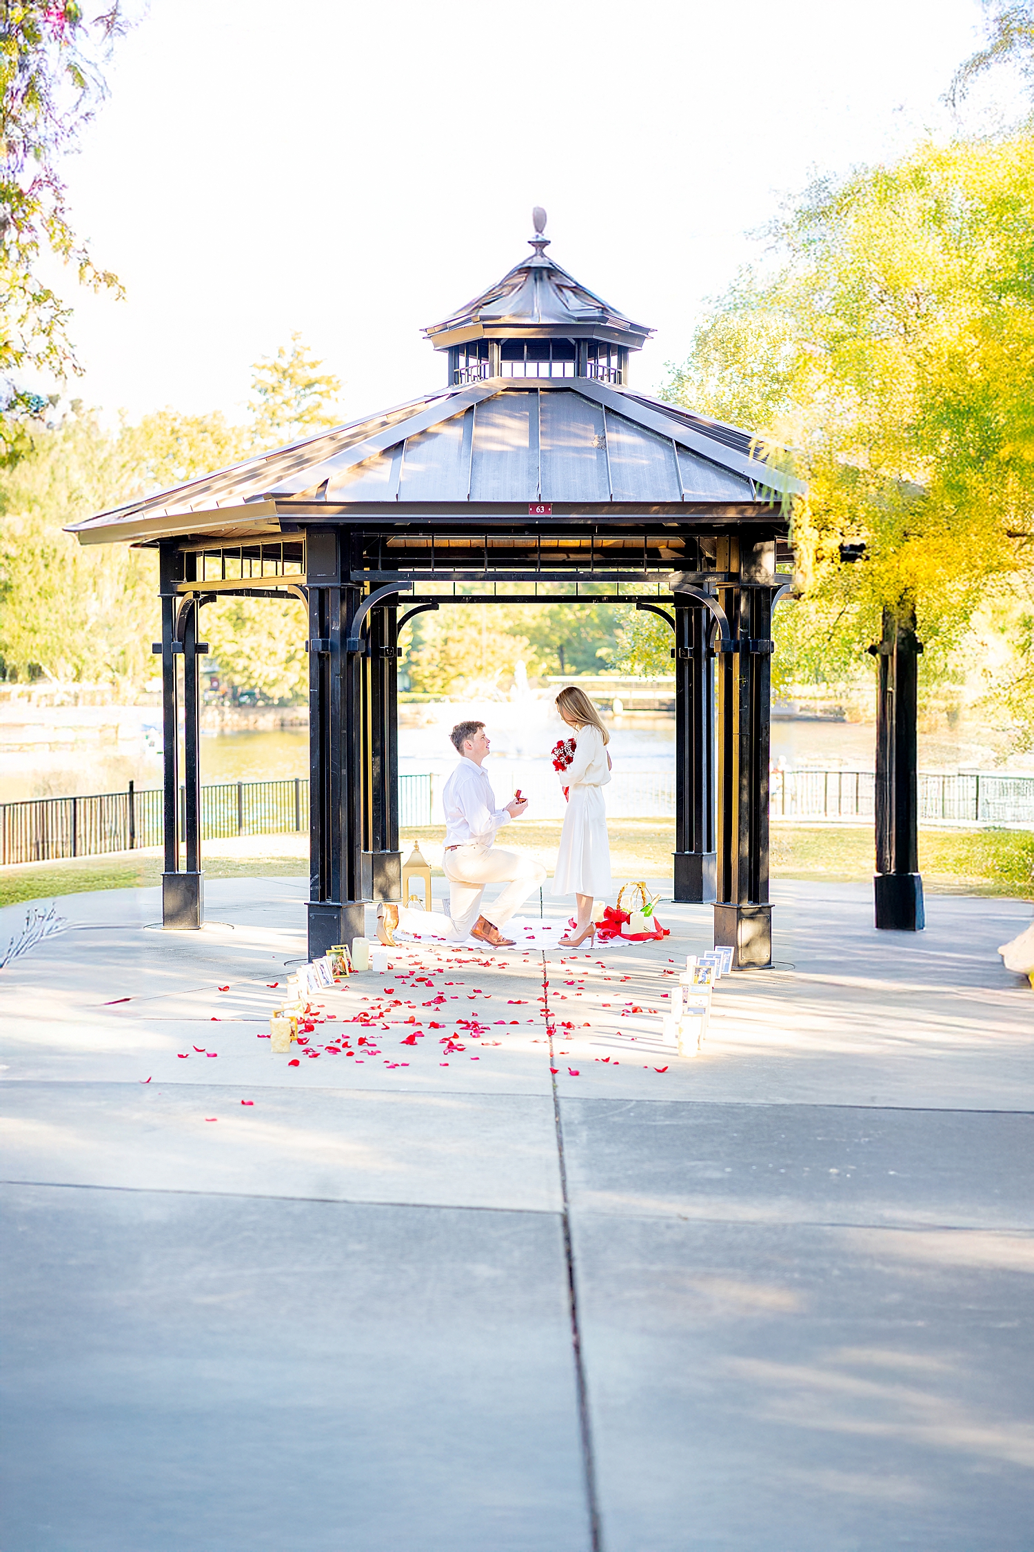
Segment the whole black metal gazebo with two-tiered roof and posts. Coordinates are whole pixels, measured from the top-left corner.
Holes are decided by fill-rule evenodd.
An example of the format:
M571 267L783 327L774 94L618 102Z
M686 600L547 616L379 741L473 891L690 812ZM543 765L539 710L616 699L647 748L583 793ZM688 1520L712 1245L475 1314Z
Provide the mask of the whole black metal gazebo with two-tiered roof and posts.
M653 331L550 259L533 220L532 255L425 331L443 388L70 528L160 554L166 927L203 922L205 604L307 604L316 956L400 894L400 632L422 610L557 602L563 584L574 607L634 601L671 627L674 897L715 902L738 967L770 962L770 621L801 487L749 431L636 393Z

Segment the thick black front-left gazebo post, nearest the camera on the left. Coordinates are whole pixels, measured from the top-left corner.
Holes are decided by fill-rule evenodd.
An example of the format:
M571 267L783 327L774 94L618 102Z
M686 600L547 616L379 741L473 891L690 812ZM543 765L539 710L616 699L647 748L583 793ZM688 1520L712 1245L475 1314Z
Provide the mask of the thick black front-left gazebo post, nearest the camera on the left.
M308 958L366 931L358 889L363 849L361 667L346 650L360 588L347 580L347 534L315 529L308 584Z

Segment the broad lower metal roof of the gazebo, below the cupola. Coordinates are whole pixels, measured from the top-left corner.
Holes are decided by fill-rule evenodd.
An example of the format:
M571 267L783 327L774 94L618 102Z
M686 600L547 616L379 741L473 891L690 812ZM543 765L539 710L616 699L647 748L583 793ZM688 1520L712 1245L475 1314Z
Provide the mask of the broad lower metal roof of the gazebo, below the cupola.
M281 520L557 517L650 509L744 514L798 481L749 431L594 379L490 377L291 442L67 529L84 545L198 534L236 542Z

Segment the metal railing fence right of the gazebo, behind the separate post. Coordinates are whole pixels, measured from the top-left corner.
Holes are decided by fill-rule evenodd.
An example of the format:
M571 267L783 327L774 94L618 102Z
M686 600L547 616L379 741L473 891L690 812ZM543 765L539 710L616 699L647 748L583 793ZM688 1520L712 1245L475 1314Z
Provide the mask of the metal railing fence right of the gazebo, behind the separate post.
M873 819L874 812L873 771L772 771L772 818ZM1034 776L921 771L919 823L1034 827Z

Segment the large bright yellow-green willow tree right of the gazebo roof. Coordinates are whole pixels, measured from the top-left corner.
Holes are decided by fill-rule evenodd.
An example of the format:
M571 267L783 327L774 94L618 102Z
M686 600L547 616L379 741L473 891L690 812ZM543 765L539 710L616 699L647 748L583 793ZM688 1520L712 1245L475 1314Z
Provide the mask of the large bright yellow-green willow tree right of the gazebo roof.
M1034 140L922 144L817 185L772 236L770 268L721 298L667 393L760 428L808 481L784 661L848 674L884 610L915 611L936 680L992 596L1029 636Z

